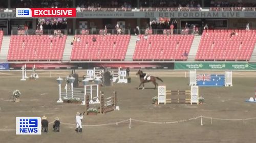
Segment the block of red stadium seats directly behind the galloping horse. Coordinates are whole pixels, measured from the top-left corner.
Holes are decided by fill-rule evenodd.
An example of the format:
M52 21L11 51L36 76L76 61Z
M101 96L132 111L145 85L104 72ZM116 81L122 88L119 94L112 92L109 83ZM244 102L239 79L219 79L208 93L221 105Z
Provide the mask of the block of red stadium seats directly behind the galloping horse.
M150 35L139 36L133 55L134 61L166 60L186 61L194 36Z

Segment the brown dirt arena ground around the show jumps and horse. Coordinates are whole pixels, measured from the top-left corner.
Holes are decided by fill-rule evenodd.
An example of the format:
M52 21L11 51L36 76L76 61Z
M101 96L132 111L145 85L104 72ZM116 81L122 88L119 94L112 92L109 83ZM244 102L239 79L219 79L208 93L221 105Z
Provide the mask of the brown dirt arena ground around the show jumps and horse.
M79 76L85 73L77 72ZM65 78L70 71L51 71L51 77L49 73L38 71L39 79L20 81L20 71L0 72L0 142L255 142L256 103L245 100L254 97L256 72L233 72L233 87L200 87L199 95L205 98L203 105L154 105L152 97L157 96L157 90L152 89L152 83L145 84L145 90L137 90L139 79L132 72L132 83L100 87L105 95L117 92L120 110L86 116L83 125L87 126L82 133L74 131L75 114L84 111L84 106L56 103L56 78ZM147 73L161 77L164 83L158 83L165 84L168 90L190 89L188 72ZM62 83L62 90L64 86ZM21 102L10 102L11 92L16 89L22 93ZM15 117L43 115L49 122L59 117L61 131L53 132L51 123L49 132L42 135L15 134ZM196 118L201 115L203 126ZM106 125L109 123L113 124Z

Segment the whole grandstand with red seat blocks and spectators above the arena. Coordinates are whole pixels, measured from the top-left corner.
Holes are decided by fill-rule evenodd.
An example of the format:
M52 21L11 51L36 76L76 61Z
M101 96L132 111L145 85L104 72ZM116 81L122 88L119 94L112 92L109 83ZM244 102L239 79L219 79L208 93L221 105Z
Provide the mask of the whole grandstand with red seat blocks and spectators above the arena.
M256 5L250 0L24 0L3 6L1 62L256 61ZM26 7L74 8L76 17L16 18L15 8Z

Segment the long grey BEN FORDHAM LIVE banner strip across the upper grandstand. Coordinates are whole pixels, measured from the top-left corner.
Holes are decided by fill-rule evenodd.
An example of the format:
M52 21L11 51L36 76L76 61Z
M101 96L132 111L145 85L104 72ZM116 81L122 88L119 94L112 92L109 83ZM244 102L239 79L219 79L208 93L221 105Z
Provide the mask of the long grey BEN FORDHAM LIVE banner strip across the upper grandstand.
M36 10L40 10L41 8L34 8ZM44 10L72 10L72 16L56 16L56 17L76 17L76 18L155 18L155 17L167 17L167 18L252 18L256 17L256 12L250 11L161 11L161 12L125 12L125 11L95 11L95 12L76 12L75 8L47 8ZM20 11L18 11L20 10ZM27 10L27 11L24 11ZM31 11L31 13L30 13ZM19 12L19 13L18 13ZM54 11L55 12L55 11ZM57 12L57 11L56 11ZM37 15L42 13L42 11L38 11ZM51 12L45 12L51 13ZM67 13L65 11L65 13ZM63 11L62 11L63 14ZM39 15L40 16L40 15ZM0 12L0 19L6 18L36 18L39 16L32 16L32 8L22 8L16 9L15 12ZM41 17L41 16L40 16ZM53 17L53 16L44 16L44 17Z

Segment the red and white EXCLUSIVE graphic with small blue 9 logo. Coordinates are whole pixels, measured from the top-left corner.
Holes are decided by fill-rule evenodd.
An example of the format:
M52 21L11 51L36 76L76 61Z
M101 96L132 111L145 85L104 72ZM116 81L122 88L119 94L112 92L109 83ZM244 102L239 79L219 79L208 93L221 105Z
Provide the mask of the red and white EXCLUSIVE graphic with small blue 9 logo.
M76 17L75 8L16 8L16 17Z

